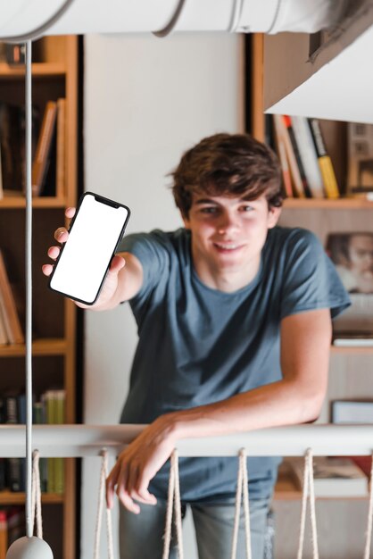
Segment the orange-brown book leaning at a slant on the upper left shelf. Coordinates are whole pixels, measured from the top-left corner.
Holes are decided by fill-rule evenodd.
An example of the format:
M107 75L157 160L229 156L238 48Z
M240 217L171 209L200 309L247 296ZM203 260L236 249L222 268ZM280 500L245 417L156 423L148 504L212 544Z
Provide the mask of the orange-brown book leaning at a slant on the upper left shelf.
M50 163L51 148L53 146L57 104L48 101L37 139L35 158L32 163L32 195L40 196L46 187L46 174Z

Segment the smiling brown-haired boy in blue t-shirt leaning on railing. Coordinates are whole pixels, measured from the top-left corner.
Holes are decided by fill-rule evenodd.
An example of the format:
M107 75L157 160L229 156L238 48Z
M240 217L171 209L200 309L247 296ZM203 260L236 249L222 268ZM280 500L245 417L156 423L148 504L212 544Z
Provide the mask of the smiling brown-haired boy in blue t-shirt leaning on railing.
M138 325L120 421L149 425L107 480L108 504L116 490L123 505L121 559L162 556L167 461L178 440L318 417L331 317L349 304L317 238L277 227L280 171L267 146L245 135L204 138L172 176L185 228L124 238L89 307L129 301ZM55 232L60 242L67 236ZM58 253L48 251L53 259ZM255 559L263 556L277 467L277 458L248 459ZM180 459L181 499L192 508L200 559L229 556L236 472L233 458Z

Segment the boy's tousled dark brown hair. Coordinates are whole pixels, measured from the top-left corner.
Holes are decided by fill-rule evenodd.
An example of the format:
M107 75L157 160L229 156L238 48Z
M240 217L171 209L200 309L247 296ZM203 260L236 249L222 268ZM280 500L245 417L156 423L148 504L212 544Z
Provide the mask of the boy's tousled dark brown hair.
M265 194L269 208L280 207L281 171L276 154L248 134L215 134L187 150L170 173L172 193L184 217L194 194L240 196Z

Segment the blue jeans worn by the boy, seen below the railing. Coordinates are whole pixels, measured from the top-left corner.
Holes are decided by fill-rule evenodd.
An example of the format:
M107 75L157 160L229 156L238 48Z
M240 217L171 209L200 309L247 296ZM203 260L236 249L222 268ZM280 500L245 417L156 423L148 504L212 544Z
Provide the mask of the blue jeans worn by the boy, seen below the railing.
M120 505L120 559L161 559L166 502L140 505L141 513L133 514ZM199 559L229 559L235 519L235 503L219 505L190 504L195 523ZM183 506L185 511L185 505ZM250 523L253 559L263 559L269 498L250 500ZM171 541L170 559L176 559L175 536ZM241 507L236 559L245 559L244 511Z

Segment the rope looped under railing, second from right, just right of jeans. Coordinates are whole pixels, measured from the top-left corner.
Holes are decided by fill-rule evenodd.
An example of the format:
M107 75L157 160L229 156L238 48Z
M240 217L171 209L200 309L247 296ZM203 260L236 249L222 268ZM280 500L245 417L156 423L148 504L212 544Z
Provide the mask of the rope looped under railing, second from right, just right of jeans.
M311 448L308 448L304 457L302 513L297 559L302 559L303 557L304 528L308 497L310 497L313 559L319 559L318 530L316 526L315 488L313 483L313 456Z

